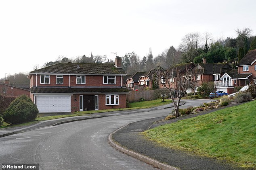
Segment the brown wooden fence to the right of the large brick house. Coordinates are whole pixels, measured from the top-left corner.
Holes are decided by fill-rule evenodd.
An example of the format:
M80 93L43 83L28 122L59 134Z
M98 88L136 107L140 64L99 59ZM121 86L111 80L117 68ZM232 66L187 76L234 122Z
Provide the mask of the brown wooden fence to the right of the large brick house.
M126 100L129 102L141 101L142 99L155 100L155 90L130 91L130 94L126 94Z

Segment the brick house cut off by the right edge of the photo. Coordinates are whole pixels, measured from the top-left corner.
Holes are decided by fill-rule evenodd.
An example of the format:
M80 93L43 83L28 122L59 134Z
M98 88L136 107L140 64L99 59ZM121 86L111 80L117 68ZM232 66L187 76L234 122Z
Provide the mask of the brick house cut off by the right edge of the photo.
M256 84L256 49L248 53L237 64L237 74L232 78L236 86Z

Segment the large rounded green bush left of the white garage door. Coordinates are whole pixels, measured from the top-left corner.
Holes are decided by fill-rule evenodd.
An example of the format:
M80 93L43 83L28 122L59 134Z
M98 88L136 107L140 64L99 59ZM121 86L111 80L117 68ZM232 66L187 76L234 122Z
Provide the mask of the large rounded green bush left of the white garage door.
M3 119L6 123L23 123L34 120L38 114L38 109L32 100L22 95L17 97L4 111Z

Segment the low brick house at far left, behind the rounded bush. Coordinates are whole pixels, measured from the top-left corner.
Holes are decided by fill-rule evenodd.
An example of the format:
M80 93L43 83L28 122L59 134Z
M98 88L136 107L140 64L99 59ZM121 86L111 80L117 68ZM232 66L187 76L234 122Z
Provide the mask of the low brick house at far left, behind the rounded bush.
M29 84L11 84L8 80L4 80L4 83L0 83L0 89L0 94L4 96L18 97L22 94L30 96Z

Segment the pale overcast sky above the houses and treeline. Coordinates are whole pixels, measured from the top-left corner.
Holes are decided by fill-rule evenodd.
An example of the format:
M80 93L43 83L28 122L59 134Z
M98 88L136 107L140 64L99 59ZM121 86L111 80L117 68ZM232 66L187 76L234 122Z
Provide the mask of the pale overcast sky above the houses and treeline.
M0 0L0 78L59 55L157 56L187 33L255 35L255 9L255 0Z

